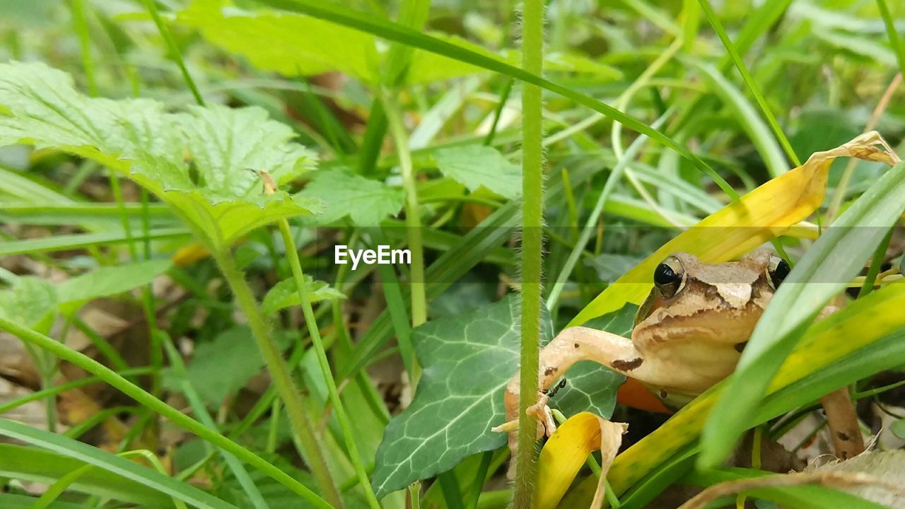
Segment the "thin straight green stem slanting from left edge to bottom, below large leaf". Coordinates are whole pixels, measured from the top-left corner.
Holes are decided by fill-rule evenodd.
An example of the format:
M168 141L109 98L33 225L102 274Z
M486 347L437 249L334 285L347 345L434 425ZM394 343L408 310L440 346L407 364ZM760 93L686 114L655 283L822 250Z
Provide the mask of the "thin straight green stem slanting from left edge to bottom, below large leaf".
M235 442L233 442L233 440L230 440L229 438L224 437L219 433L211 431L210 429L205 427L205 425L201 424L193 418L189 418L176 408L170 407L169 405L167 405L167 403L164 403L160 399L155 398L145 389L141 389L129 380L124 379L116 371L110 370L110 368L104 366L103 364L100 364L100 362L98 362L97 360L93 360L79 351L72 350L71 348L63 345L60 341L53 340L52 338L49 338L40 332L27 329L19 325L18 323L7 320L3 317L0 317L0 331L9 332L10 334L13 334L15 337L24 341L26 344L33 345L43 351L49 351L61 360L71 362L82 370L88 371L92 375L109 384L111 387L119 389L123 394L129 396L129 398L135 399L135 401L139 405L142 405L149 410L156 412L160 416L169 419L170 422L172 422L176 426L182 427L183 429L186 429L186 431L194 433L197 437L207 440L216 447L220 447L225 451L233 453L233 455L241 459L243 462L261 470L264 474L270 476L273 480L289 488L293 493L300 495L308 504L311 504L311 506L329 509L330 504L328 504L317 494L312 492L308 487L293 479L290 475L286 474L276 466L271 465L261 456L257 456L245 447L236 444Z

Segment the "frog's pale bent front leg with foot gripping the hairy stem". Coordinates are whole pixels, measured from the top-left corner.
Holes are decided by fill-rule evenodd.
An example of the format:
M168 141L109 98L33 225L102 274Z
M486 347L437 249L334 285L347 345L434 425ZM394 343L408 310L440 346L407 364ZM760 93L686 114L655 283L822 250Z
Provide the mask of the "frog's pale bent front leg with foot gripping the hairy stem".
M540 351L540 370L537 403L534 403L528 412L538 417L538 437L543 435L546 428L548 435L556 431L556 422L552 418L547 407L547 389L553 385L573 364L579 360L594 360L607 368L618 371L626 376L639 379L649 378L650 373L656 369L656 360L645 360L634 348L632 340L617 336L610 332L597 331L587 327L570 327L559 332L553 341L550 341ZM636 376L642 374L642 376ZM518 448L519 419L519 374L506 386L505 396L506 423L495 427L497 431L510 433L509 446L513 455Z

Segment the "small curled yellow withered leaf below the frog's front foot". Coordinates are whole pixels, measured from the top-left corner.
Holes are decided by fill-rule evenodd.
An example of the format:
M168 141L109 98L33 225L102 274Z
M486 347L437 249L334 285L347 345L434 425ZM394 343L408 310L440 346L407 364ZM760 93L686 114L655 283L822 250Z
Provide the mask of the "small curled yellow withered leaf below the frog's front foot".
M601 473L591 507L600 507L604 500L606 471L613 464L624 432L624 424L610 422L591 412L568 418L540 451L538 508L556 507L587 456L597 449L601 451Z

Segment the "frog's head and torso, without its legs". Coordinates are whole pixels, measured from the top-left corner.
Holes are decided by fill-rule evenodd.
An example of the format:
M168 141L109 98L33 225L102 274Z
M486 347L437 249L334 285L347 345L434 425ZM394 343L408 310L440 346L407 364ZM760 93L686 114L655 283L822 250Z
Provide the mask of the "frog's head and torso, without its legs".
M649 379L625 374L643 382L667 406L679 407L735 369L787 266L765 251L725 264L704 264L678 253L658 270L662 265L679 281L664 279L654 286L632 331L638 357L655 360L658 373L645 372Z

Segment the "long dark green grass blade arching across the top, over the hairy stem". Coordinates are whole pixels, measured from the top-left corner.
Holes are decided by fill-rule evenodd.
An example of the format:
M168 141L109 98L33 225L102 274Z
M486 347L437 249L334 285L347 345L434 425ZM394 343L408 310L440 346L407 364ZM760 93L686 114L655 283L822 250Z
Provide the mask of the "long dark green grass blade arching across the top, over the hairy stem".
M719 177L719 175L716 171L713 170L713 168L710 168L710 166L708 166L707 163L701 160L701 158L691 153L689 149L686 149L684 146L676 142L674 139L666 136L661 131L651 129L650 126L643 123L641 120L635 119L634 117L624 113L623 111L616 110L612 106L609 106L602 101L597 101L589 95L573 91L567 86L555 82L550 82L533 72L519 69L518 67L510 65L506 62L502 62L500 59L490 56L489 54L476 53L469 49L463 48L462 46L443 41L430 35L416 32L401 24L395 24L383 19L376 18L375 16L360 14L348 8L329 5L322 2L315 2L312 0L262 0L261 4L271 5L272 7L285 9L291 12L308 14L312 17L329 21L331 23L348 26L349 28L367 32L368 34L374 34L388 41L405 43L427 52L437 53L439 55L443 55L460 62L471 63L472 65L487 69L492 72L499 72L500 74L510 76L511 78L515 78L519 81L536 85L544 90L557 93L558 95L566 97L567 99L576 101L576 103L578 104L602 113L606 117L618 121L624 126L636 130L641 134L645 134L651 139L661 143L662 145L665 145L666 147L669 147L670 149L676 150L682 156L688 158L695 166L695 168L700 169L700 171L709 175L710 178L713 178L713 181L716 182L717 185L719 185L719 187L723 189L724 192L726 192L726 194L733 198L738 197L738 194L731 186L729 186L729 183L727 183L723 178Z

